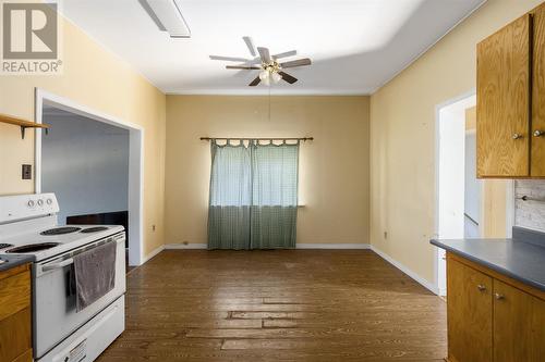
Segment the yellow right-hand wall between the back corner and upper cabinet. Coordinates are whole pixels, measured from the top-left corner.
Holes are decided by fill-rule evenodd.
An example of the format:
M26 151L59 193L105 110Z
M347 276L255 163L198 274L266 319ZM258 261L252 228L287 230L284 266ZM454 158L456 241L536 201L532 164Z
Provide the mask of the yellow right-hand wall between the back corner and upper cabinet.
M488 0L371 98L371 242L429 283L435 107L476 87L479 41L542 1Z

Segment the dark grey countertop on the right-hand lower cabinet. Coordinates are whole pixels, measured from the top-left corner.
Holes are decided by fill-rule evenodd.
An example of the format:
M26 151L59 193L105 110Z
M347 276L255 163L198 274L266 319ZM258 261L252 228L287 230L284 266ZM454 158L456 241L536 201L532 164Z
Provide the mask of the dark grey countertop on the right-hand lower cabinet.
M545 291L545 234L513 228L512 239L432 239L429 242Z

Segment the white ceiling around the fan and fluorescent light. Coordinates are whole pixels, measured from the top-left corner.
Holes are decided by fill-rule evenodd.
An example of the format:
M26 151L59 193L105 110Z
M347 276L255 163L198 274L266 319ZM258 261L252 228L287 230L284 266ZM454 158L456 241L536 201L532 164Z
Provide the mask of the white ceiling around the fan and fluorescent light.
M391 79L485 0L178 0L191 39L159 32L137 0L64 0L61 11L168 93L267 93L257 71L226 70L209 54L244 57L242 36L313 65L272 93L362 95Z

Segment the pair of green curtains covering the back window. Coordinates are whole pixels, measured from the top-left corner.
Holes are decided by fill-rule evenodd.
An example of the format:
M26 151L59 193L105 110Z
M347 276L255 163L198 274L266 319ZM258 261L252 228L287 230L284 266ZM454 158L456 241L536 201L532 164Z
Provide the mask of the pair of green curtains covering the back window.
M208 249L295 248L299 142L210 147Z

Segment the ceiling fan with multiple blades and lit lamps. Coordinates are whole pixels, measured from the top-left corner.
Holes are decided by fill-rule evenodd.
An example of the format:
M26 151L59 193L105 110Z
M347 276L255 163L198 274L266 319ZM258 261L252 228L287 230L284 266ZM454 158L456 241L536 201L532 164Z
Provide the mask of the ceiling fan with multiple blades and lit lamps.
M249 86L255 87L261 82L268 86L270 83L278 83L281 79L289 84L294 84L298 82L292 75L283 72L283 70L289 67L296 67L303 65L311 65L311 60L308 58L302 58L288 62L279 62L279 59L296 55L296 50L286 51L283 53L270 55L267 48L255 47L251 37L242 37L246 43L252 59L246 58L235 58L235 57L221 57L221 55L210 55L211 60L227 61L227 62L239 62L240 64L227 65L228 70L243 70L243 71L261 71L259 75L250 83ZM258 54L258 55L257 55Z

